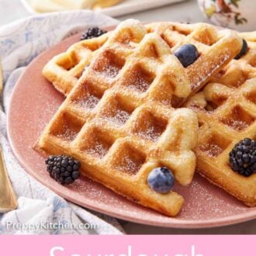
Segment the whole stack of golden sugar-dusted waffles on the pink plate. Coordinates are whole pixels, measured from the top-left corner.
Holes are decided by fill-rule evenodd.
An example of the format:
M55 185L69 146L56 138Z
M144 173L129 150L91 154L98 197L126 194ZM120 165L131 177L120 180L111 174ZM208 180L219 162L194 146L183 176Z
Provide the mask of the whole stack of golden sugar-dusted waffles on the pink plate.
M43 69L67 98L36 150L75 157L82 174L168 216L179 213L184 199L173 190L162 194L150 188L147 177L154 168L167 167L179 184L189 185L197 165L211 182L254 205L255 175L246 179L232 171L247 193L232 192L231 181L222 182L231 176L225 164L230 147L255 137L254 39L243 36L250 37L250 50L239 61L233 59L242 47L240 36L203 23L144 26L127 20L103 36L75 43ZM188 67L174 55L185 43L199 50ZM242 86L231 85L238 67ZM208 110L210 100L218 112Z

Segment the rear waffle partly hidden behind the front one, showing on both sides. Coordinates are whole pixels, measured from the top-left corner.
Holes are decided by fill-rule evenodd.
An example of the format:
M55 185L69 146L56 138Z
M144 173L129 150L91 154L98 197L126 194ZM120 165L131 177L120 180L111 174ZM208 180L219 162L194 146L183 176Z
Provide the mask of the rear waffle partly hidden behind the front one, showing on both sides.
M197 47L199 59L185 68L192 88L191 95L199 91L213 74L233 59L241 47L241 40L236 33L227 29L219 31L209 24L157 22L145 27L146 33L156 32L161 35L172 52L184 43L192 43ZM107 33L99 38L75 43L67 52L50 60L43 68L43 75L58 91L67 95L110 35L111 33ZM133 51L130 51L130 54L132 53ZM126 55L128 56L129 54ZM123 61L126 61L125 58ZM174 95L172 100L173 106L179 106L184 101L177 95Z

